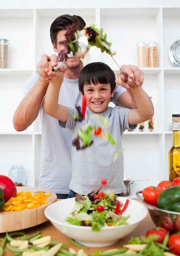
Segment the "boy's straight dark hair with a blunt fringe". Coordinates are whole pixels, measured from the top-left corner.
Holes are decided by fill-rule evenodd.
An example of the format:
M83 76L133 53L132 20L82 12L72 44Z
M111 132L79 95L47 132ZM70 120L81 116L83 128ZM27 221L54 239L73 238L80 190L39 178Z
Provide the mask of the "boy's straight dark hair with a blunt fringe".
M90 83L97 84L107 84L111 85L111 93L116 87L116 76L111 70L111 68L102 62L93 62L87 64L80 72L79 76L79 90L84 94L84 85L88 85Z

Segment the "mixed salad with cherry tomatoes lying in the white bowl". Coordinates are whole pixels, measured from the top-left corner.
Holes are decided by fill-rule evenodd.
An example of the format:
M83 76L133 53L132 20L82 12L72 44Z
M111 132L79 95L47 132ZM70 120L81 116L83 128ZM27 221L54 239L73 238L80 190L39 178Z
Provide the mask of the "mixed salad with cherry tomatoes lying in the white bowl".
M130 216L122 216L122 203L117 200L114 191L104 193L94 189L88 195L76 194L75 205L66 221L71 225L92 227L98 232L102 227L128 225ZM125 205L124 205L125 206Z

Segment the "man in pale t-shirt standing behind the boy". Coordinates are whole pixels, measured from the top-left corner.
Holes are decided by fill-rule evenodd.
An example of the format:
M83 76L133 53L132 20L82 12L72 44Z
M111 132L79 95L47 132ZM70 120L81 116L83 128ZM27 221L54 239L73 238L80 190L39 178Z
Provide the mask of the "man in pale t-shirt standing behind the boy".
M85 26L80 16L62 15L56 18L50 28L50 36L55 52L64 49L64 33L69 25L78 24L80 29ZM37 65L38 73L31 76L24 88L24 99L18 106L13 125L17 131L26 130L40 113L42 123L42 170L39 187L49 189L57 194L58 198L67 198L69 194L69 182L71 180L71 147L72 136L69 130L61 128L58 120L44 112L42 103L49 81L53 76L51 67L57 65L57 55L47 56L42 54L42 59ZM64 73L64 81L61 87L59 103L64 106L80 105L82 97L78 89L78 78L83 68L79 59L69 58L65 62L67 71ZM128 75L128 82L119 71L113 102L119 106L135 108L131 95L127 90L131 87L139 87L144 81L143 72L133 65L123 65L122 68ZM60 69L60 68L59 68ZM125 88L127 88L127 90ZM129 90L130 91L130 90ZM133 97L132 97L133 99Z

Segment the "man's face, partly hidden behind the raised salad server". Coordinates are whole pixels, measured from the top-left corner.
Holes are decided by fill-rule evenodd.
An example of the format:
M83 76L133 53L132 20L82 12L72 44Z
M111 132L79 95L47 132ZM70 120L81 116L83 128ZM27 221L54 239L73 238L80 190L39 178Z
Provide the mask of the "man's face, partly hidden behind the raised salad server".
M64 49L64 43L66 41L66 38L64 34L66 33L66 30L61 30L57 34L57 45L55 46L53 43L53 49L55 52L60 52ZM76 58L68 58L67 61L65 61L65 64L67 65L68 69L76 69L80 66L81 61L80 59Z

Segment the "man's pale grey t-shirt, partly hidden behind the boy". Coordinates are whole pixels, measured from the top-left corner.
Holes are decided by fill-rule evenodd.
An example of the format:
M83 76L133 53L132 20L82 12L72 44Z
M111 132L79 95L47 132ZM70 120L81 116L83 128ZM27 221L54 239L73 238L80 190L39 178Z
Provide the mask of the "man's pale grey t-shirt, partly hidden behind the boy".
M31 76L24 88L24 96L33 88L39 74ZM113 102L126 89L117 85ZM82 96L78 88L78 79L67 79L61 86L59 103L64 106L81 106ZM59 126L58 120L47 115L41 105L40 119L42 123L42 167L39 187L49 189L54 193L68 194L71 181L71 148L72 135L68 129Z

